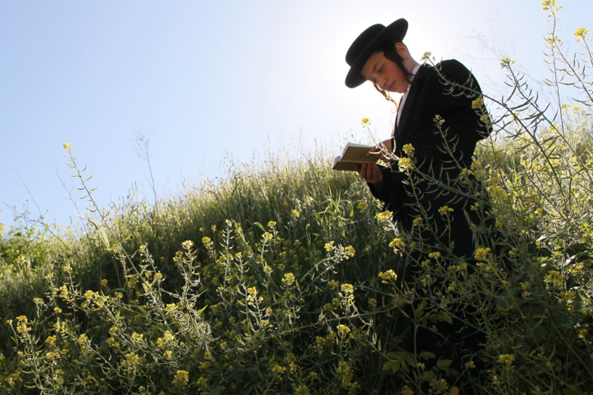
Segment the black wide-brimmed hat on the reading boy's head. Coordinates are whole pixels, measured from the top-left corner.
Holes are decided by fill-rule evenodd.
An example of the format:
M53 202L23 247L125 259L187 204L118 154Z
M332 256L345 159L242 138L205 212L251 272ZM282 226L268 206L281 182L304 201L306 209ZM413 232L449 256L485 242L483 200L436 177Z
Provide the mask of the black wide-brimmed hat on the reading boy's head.
M365 82L366 78L362 76L361 70L366 60L388 41L397 43L403 40L406 32L407 21L404 18L398 19L387 27L376 24L363 31L346 52L346 63L350 65L350 71L346 75L346 86L356 88Z

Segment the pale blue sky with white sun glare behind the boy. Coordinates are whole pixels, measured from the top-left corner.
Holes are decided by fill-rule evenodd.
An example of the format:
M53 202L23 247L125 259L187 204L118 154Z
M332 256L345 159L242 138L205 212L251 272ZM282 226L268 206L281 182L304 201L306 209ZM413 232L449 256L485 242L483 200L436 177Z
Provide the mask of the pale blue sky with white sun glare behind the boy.
M560 5L568 43L576 28L593 29L593 2ZM1 1L0 223L13 207L79 221L63 142L107 208L134 186L151 199L138 135L151 139L161 197L254 155L337 155L347 139L366 139L362 117L387 138L388 105L368 84L346 88L344 56L366 27L400 17L413 57L459 59L486 92L504 89L504 56L546 76L541 1Z

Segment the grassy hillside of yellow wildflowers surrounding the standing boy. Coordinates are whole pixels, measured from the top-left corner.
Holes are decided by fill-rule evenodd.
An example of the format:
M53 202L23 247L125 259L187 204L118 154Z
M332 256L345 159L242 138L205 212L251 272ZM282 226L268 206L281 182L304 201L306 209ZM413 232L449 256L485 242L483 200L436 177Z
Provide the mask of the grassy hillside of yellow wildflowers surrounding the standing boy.
M65 144L95 216L0 225L0 393L593 393L587 34L571 53L551 31L549 107L502 60L509 95L484 97L495 131L460 185L482 179L505 241L492 248L476 224L471 269L410 243L358 175L317 153L107 215ZM401 171L416 169L412 148ZM429 259L410 277L418 248ZM483 335L474 354L403 346L404 330L451 320Z

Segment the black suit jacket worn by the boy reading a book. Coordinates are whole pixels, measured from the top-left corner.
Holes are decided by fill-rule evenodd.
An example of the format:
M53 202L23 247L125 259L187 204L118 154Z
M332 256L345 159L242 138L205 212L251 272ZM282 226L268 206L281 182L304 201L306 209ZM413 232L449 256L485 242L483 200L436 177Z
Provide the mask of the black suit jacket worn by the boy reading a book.
M393 147L402 158L407 156L403 147L412 144L419 172L402 173L394 162L382 169L382 184L369 184L372 194L384 201L384 209L393 211L404 229L410 229L418 216L438 219L437 211L444 205L462 213L468 204L466 197L448 187L454 186L462 168L471 165L476 143L490 133L489 119L481 119L484 113L473 108L480 97L476 79L457 60L422 65L417 71L393 131ZM437 115L443 120L440 125Z

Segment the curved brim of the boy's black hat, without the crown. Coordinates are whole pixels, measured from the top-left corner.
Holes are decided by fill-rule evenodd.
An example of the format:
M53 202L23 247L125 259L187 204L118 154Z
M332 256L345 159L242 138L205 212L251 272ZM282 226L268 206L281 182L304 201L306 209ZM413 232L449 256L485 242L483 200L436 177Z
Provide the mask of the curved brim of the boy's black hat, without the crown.
M362 76L362 68L371 55L387 40L400 42L406 37L408 23L404 18L400 18L394 23L387 25L377 36L373 37L361 50L356 59L352 62L350 70L346 75L346 86L356 88L362 85L366 78Z

